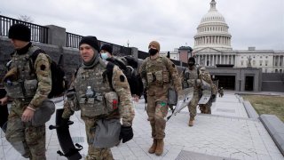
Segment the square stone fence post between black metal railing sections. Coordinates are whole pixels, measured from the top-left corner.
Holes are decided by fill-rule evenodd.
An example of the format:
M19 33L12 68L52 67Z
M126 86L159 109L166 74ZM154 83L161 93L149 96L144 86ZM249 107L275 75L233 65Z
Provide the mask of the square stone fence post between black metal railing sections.
M60 28L54 25L45 26L48 29L48 44L66 47L66 28Z

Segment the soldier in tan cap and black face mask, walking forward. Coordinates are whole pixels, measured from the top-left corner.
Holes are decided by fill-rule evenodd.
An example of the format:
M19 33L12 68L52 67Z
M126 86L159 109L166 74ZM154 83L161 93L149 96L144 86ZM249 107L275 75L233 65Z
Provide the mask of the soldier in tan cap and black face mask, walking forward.
M153 145L148 152L161 156L163 152L165 138L166 119L168 114L168 90L170 79L177 95L180 97L181 84L176 66L166 57L160 56L160 44L152 41L148 45L150 57L147 57L141 64L139 73L142 82L147 89L148 120L152 128Z

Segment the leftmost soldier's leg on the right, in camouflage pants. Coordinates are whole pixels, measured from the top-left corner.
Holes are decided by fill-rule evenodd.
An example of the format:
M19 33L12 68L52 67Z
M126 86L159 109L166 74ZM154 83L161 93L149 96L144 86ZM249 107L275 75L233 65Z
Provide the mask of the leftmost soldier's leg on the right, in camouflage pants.
M26 123L25 135L31 159L46 159L45 125L34 127L31 123Z

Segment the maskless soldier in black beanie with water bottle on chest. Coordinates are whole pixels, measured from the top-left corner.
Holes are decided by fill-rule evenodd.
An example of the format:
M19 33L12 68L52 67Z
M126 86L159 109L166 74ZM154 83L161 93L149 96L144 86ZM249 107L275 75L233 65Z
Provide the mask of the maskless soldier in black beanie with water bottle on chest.
M122 142L132 139L131 125L134 109L130 86L120 68L101 59L99 42L95 36L83 37L79 44L79 51L83 65L78 68L69 92L67 92L68 99L64 104L62 122L67 122L69 116L80 109L89 144L86 159L114 159L110 148L96 148L93 145L96 122L99 119L119 119L122 117L120 135ZM112 77L106 76L106 72L111 72ZM89 98L86 92L88 86L93 92L93 95ZM118 104L114 103L113 99L112 101L106 100L106 95L109 95L109 93L116 95L116 99L118 97Z

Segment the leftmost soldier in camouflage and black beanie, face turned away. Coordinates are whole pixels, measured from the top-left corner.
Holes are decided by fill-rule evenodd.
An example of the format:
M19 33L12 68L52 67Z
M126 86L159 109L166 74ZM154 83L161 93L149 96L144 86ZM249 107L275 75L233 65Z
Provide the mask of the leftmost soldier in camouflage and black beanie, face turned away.
M46 159L45 124L32 126L31 119L51 92L51 60L39 53L35 63L30 61L29 56L38 49L30 43L30 36L30 29L23 24L9 29L16 51L12 53L11 69L4 76L7 95L0 101L12 100L6 139L22 156L42 160Z

